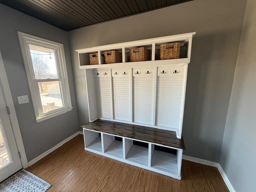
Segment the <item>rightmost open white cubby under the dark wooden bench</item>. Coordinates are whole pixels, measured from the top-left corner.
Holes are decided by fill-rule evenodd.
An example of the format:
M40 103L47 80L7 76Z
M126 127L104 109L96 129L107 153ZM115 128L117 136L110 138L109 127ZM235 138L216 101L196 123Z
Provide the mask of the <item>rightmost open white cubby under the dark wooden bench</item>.
M152 144L153 145L153 144ZM170 174L179 175L178 150L153 145L151 167Z

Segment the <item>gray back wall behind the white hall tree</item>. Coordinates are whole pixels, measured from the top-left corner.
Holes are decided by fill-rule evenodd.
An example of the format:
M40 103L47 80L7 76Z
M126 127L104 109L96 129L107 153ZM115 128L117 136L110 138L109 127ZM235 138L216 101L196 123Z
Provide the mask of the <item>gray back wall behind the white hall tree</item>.
M184 112L186 155L219 161L246 2L194 0L68 32L79 124L88 121L76 49L196 32Z

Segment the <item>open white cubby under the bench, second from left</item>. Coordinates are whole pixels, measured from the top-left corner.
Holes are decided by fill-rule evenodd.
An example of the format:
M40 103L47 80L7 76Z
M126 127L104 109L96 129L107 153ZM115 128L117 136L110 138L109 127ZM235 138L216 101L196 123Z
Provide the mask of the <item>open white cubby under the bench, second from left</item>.
M123 158L123 141L121 137L103 134L103 150L106 154Z

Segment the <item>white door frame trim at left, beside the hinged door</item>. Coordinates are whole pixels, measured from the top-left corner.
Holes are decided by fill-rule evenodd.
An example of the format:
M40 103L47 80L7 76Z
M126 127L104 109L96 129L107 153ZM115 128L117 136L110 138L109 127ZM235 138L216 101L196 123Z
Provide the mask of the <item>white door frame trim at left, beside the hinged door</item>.
M9 86L9 83L8 83L8 78L7 78L7 75L6 75L6 71L5 71L5 68L4 68L4 62L3 62L3 59L2 59L1 51L0 51L0 68L1 68L1 70L0 70L0 84L2 86L6 106L9 107L9 110L10 110L9 117L10 117L10 122L11 122L11 125L12 125L12 130L13 130L13 133L14 133L14 138L16 140L17 148L18 148L18 151L20 152L20 156L21 156L20 161L21 161L22 167L27 168L28 167L28 160L27 160L24 144L23 144L23 141L22 141L22 136L21 136L21 133L20 133L20 126L19 126L19 123L18 123L18 118L17 118L17 115L16 115L16 111L15 111L15 108L14 108L14 102L12 100L12 94L11 94L10 86Z

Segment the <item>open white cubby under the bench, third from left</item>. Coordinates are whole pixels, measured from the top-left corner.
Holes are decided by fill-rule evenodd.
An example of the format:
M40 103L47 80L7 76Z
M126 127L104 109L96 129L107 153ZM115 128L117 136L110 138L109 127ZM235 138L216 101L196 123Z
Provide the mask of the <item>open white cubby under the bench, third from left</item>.
M125 145L126 160L148 166L148 143L125 139Z

